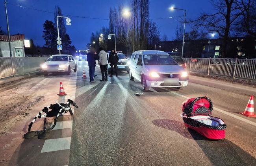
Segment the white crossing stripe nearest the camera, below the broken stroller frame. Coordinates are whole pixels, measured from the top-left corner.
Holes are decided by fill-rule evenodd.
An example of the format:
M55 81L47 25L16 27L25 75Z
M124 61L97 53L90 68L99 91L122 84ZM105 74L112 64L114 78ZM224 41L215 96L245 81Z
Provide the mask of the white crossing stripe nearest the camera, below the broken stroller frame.
M41 153L70 149L71 137L45 140Z

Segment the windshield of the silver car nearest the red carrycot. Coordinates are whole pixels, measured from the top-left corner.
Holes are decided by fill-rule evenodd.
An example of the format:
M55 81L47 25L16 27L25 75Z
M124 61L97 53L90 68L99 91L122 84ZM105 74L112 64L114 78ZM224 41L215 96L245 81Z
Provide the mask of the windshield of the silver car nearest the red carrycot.
M145 65L177 65L170 55L144 55Z

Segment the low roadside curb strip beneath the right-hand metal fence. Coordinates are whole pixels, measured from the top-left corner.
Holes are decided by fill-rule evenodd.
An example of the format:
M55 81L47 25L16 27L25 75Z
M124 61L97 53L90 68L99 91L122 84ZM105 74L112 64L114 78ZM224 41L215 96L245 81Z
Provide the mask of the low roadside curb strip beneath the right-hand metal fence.
M199 76L203 78L211 78L211 79L216 79L216 80L222 80L222 81L227 81L231 83L237 83L237 84L242 84L242 85L249 85L250 87L256 87L256 81L251 81L251 80L242 80L242 79L232 79L228 77L222 77L222 76L215 76L215 75L206 75L206 74L200 74L200 73L195 73L195 72L190 72L189 73L192 76Z

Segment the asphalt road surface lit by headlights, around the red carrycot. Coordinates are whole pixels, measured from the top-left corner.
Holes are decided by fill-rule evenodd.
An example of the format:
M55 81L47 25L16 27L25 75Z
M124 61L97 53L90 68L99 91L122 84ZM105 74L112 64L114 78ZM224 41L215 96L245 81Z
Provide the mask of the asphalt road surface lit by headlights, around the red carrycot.
M75 102L79 108L75 109L72 129L59 131L62 135L65 132L72 133L70 149L65 155L61 155L61 150L54 155L51 153L54 163L57 163L54 165L256 165L256 118L238 114L245 109L250 95L256 96L256 88L190 76L189 85L183 90L150 88L145 96L135 96L136 92L143 92L143 89L138 81L130 81L126 72L120 73L118 78L101 82L97 66L96 83L89 83L89 78L82 78L83 69L88 71L87 61L78 62L77 77L74 72L71 76L37 76L14 82L12 86L0 87L1 105L5 106L1 112L8 121L16 123L8 123L8 127L7 120L0 121L6 127L1 127L0 138L4 143L0 147L0 165L22 165L19 159L27 153L22 149L24 139L21 138L26 130L25 125L38 112L35 108L54 99L59 80L68 85L65 88L64 84L68 94L75 90ZM72 79L76 79L72 81L74 84L69 82ZM38 82L41 82L42 89L38 89ZM37 91L30 94L32 88ZM28 103L20 99L19 93L26 97L26 101L34 101L34 104L28 108ZM208 96L213 101L213 116L220 117L227 124L225 139L208 140L184 126L180 117L181 105L188 97L198 96ZM9 97L8 105L2 103L2 97ZM37 102L39 106L35 106ZM26 108L28 113L19 121L16 116L20 117L19 110L8 112L17 103ZM22 128L21 134L17 133L18 126ZM42 147L38 148L41 150ZM67 164L60 162L61 157L68 155ZM32 157L33 161L38 160ZM41 165L40 162L37 164Z

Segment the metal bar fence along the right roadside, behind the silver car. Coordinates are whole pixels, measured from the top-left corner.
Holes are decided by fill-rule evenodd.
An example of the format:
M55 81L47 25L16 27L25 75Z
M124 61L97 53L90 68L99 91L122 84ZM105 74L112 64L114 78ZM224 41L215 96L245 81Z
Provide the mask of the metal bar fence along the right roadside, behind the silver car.
M256 79L256 59L183 58L189 72Z

